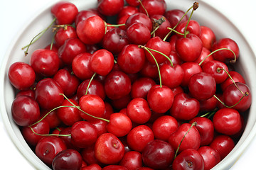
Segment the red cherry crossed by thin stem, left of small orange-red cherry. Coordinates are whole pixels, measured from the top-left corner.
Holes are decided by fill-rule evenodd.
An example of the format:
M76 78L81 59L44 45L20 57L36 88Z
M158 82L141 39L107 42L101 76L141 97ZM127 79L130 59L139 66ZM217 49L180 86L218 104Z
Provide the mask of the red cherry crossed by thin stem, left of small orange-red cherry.
M61 104L61 106L73 106L73 104L71 104L70 101L73 104L75 104L75 106L78 106L78 103L71 98L69 99L69 101L67 99L65 99L63 101L63 103ZM74 107L58 108L57 115L58 115L58 118L60 118L60 120L65 125L68 125L68 126L71 126L74 123L82 120L82 118L80 116L80 111L78 110L78 108L74 108Z

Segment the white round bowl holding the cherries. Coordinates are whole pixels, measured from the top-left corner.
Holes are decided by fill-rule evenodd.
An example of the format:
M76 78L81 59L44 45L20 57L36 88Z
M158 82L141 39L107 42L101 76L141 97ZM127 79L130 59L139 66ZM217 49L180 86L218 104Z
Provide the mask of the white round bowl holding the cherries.
M28 63L29 57L33 50L40 47L45 47L50 43L53 33L48 31L45 35L43 35L43 38L38 40L38 42L30 47L27 57L24 57L23 50L21 50L23 45L26 45L34 35L46 28L53 20L53 16L50 13L50 8L53 4L55 4L55 2L56 1L53 1L52 3L48 4L48 6L46 6L46 8L44 8L42 11L38 11L38 15L31 18L31 21L26 24L26 27L21 29L18 35L16 35L16 39L11 43L9 50L6 52L0 72L0 109L4 125L9 133L9 136L11 137L11 140L14 142L21 154L23 154L23 156L28 159L28 162L30 162L31 165L33 165L36 169L49 169L49 167L43 164L43 162L36 157L36 154L34 154L31 148L28 147L26 141L21 135L21 131L11 118L11 103L14 100L15 91L13 86L11 86L9 83L7 73L12 63L17 61ZM92 8L97 4L97 0L77 0L72 2L78 6L79 10ZM187 8L193 4L193 2L188 0L179 0L178 3L175 3L175 1L166 1L166 4L169 8L179 8L186 11ZM255 53L252 51L252 47L250 47L250 44L247 42L245 37L242 35L242 33L240 33L240 30L238 30L238 28L228 18L226 18L223 13L220 13L220 11L216 10L210 6L210 4L207 4L204 1L199 1L199 4L199 8L193 13L193 19L199 21L201 25L212 28L217 35L217 38L232 38L238 43L240 47L240 59L237 68L245 77L245 81L247 82L248 86L250 86L252 91L252 106L249 111L245 131L243 132L242 137L235 145L232 152L230 152L225 159L223 159L217 166L213 168L230 169L230 167L236 162L242 152L244 152L245 148L250 144L256 134L256 89L254 85L256 84Z

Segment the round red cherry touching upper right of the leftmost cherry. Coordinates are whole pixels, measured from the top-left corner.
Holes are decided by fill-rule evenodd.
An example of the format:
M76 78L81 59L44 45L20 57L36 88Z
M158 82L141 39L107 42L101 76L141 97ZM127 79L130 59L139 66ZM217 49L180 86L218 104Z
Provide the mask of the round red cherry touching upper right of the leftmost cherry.
M37 74L51 77L60 67L58 54L52 50L38 49L31 55L30 64Z

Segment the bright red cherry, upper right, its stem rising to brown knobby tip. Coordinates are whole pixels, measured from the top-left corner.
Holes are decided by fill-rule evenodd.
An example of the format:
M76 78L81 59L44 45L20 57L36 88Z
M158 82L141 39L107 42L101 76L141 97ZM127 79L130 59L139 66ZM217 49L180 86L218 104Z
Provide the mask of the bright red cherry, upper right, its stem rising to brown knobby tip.
M202 41L192 33L176 40L176 51L184 62L195 61L201 55L202 48Z

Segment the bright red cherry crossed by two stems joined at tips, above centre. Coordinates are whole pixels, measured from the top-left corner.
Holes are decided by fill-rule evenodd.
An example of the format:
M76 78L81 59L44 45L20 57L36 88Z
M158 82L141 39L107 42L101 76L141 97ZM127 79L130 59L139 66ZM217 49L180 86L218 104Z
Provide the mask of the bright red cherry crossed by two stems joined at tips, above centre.
M159 51L164 53L164 55L169 56L171 53L171 44L169 42L165 42L159 37L151 38L148 42L146 42L146 47L151 48L153 50ZM159 54L158 52L150 51L152 55L154 55L154 58L156 59L156 62L158 64L161 64L162 62L165 62L167 59L164 57L164 55ZM154 58L149 54L149 52L145 52L146 59L151 64L156 64Z

